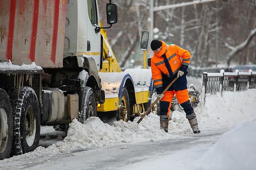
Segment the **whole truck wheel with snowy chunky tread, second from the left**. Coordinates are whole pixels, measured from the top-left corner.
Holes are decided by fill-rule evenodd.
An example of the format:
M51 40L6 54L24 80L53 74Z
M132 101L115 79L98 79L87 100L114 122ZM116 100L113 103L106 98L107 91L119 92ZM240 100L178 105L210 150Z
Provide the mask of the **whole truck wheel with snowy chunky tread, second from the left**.
M40 109L35 91L31 87L14 90L11 96L14 135L12 155L31 152L40 139Z

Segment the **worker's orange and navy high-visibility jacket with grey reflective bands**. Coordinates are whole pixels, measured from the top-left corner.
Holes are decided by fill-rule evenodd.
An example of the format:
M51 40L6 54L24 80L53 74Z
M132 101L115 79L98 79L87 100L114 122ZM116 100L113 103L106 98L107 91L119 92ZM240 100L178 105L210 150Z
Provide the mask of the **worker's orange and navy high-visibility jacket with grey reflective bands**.
M161 93L163 88L166 88L169 83L177 76L179 70L186 73L187 67L190 64L190 52L180 48L175 44L166 45L164 41L162 42L161 51L154 55L151 58L151 71L152 77L154 80L154 87L158 91L157 93ZM171 67L171 73L166 67L164 62L164 54L168 60L168 63ZM161 87L161 88L159 88ZM178 80L173 83L172 87L169 90L184 90L187 88L187 79L186 75L184 74Z

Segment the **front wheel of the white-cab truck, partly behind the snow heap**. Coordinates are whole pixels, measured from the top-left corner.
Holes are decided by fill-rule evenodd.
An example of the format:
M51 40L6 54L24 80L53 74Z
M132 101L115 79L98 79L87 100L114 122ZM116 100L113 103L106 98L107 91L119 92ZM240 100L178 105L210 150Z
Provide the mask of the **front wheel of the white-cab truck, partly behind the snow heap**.
M79 96L80 99L80 96ZM96 117L96 101L92 88L85 87L81 96L82 106L79 110L79 122L84 124L89 117Z

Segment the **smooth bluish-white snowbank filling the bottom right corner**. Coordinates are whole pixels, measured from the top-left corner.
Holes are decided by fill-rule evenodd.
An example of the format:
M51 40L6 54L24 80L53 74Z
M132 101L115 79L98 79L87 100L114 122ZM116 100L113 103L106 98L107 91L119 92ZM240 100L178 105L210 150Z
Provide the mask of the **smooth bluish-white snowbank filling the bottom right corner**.
M255 170L256 119L235 124L199 161L203 170Z

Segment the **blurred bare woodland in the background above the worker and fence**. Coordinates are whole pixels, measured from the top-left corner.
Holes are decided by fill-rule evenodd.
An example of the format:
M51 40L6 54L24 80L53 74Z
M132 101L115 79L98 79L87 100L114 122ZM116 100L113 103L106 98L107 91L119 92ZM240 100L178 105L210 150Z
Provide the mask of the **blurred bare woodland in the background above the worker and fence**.
M188 1L191 0L154 0L154 6ZM136 53L141 31L149 30L150 0L112 2L118 5L119 21L106 31L123 66L131 54L141 55ZM156 11L154 27L159 29L159 39L188 49L192 54L191 65L196 67L217 67L227 61L228 64L256 63L255 4L256 0L215 1Z

